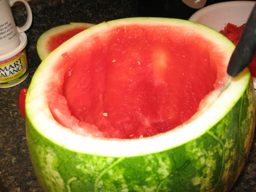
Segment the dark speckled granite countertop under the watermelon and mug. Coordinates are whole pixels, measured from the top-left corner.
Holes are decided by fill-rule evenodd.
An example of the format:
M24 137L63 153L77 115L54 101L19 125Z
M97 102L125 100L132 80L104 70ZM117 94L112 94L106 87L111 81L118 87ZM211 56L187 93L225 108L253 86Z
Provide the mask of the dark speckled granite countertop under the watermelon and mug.
M207 3L215 3L208 0ZM180 0L31 0L33 22L26 32L29 76L19 85L0 89L0 191L42 192L32 163L26 141L25 120L19 111L19 93L28 88L32 75L40 64L36 52L38 37L52 27L70 22L101 23L114 19L156 16L188 19L196 9L182 4ZM18 26L25 23L25 6L12 8ZM5 189L5 190L4 190ZM233 192L256 191L256 137L245 167L232 188Z

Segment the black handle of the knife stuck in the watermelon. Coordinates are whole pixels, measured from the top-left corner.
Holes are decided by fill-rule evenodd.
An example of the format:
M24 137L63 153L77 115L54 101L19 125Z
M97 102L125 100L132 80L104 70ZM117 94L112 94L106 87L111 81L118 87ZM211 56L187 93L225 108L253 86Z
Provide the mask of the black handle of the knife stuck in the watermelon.
M253 60L256 52L256 5L245 25L237 46L231 55L227 73L235 77Z

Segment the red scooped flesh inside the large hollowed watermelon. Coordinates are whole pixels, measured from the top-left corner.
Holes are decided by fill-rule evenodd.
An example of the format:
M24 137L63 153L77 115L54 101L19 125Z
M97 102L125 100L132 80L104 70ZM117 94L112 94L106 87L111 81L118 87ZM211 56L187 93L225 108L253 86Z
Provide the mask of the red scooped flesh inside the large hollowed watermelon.
M223 86L223 56L200 34L159 28L117 28L89 39L90 52L63 54L58 85L49 85L54 118L80 134L111 138L148 137L191 119Z

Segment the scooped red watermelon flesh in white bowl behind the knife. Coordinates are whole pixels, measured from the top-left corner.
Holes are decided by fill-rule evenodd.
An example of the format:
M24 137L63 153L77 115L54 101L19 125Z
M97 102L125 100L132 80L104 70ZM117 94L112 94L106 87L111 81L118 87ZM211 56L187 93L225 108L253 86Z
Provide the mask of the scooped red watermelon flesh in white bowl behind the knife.
M224 34L229 40L231 40L235 45L237 45L238 40L244 30L245 24L237 27L234 24L228 23L224 30L220 31ZM254 56L253 61L249 64L249 69L253 77L256 77L256 55Z

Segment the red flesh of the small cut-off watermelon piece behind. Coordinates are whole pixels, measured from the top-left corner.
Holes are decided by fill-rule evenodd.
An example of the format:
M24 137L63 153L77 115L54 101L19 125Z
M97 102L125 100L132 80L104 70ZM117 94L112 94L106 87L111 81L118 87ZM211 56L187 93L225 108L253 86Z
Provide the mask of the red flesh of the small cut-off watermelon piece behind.
M87 27L81 26L75 29L70 29L64 32L60 32L58 34L52 35L48 40L48 50L49 53L55 50L57 47L59 47L61 44L63 44L66 40L70 39L72 36L78 34L79 32L82 32L84 30L87 30Z

